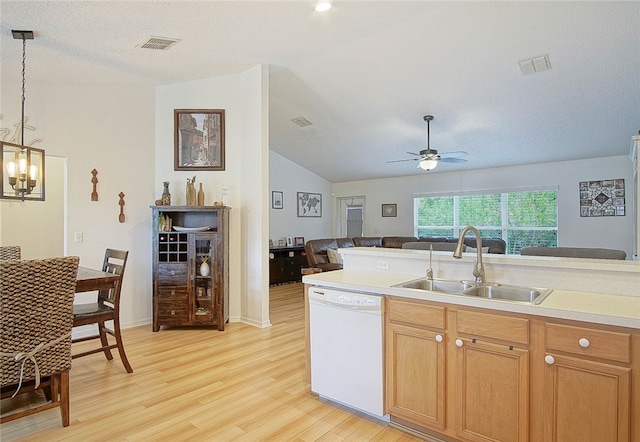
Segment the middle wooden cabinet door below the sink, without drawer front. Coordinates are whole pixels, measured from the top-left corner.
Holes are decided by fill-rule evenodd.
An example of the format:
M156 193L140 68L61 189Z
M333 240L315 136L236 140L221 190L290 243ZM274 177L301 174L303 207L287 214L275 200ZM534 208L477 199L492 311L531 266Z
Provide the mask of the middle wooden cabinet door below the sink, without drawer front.
M529 351L464 338L458 338L455 345L458 437L468 441L526 441Z

